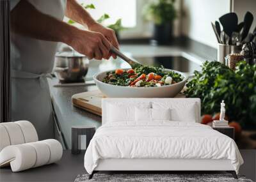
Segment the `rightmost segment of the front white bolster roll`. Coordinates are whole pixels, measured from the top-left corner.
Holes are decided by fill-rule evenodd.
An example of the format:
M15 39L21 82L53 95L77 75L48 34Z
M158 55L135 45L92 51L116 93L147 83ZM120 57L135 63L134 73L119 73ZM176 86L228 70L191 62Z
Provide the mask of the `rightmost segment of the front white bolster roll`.
M51 151L51 156L48 163L56 162L61 159L63 148L58 140L47 139L47 140L42 140L42 142L45 142L45 144L49 146Z

